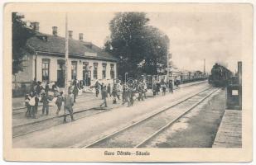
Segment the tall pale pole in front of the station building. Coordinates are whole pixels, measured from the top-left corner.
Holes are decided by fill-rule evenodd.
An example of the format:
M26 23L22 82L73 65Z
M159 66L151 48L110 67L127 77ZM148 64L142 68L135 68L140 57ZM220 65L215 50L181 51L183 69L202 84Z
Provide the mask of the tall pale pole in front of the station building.
M69 94L69 35L68 35L68 15L65 13L65 95Z

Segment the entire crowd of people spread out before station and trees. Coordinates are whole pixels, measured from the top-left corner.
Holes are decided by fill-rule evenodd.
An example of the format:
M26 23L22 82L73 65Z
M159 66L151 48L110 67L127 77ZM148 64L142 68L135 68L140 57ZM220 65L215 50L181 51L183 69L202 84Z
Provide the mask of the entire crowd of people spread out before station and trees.
M73 116L73 106L76 102L76 98L79 92L83 89L83 84L77 79L70 83L68 94L64 96L63 92L60 92L60 88L57 87L56 82L46 82L46 85L42 85L41 82L36 79L31 84L31 91L25 96L25 105L27 106L26 116L28 118L36 118L38 114L38 104L41 101L42 109L41 115L49 115L49 102L56 104L56 115L59 115L62 105L64 105L64 122L66 122L66 116L69 112L71 120L75 120ZM133 82L114 82L113 85L110 83L104 84L98 81L94 84L95 95L103 100L100 107L108 107L107 98L111 97L113 104L118 102L122 105L133 106L134 101L144 101L147 99L147 82L134 80ZM165 81L153 81L152 82L152 93L153 96L159 94L162 91L164 96L167 92L173 92L173 85L171 80Z

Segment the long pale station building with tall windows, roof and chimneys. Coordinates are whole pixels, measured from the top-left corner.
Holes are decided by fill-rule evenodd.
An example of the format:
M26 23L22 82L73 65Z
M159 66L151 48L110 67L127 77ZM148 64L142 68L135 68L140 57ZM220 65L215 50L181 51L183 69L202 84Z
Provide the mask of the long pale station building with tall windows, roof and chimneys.
M13 85L30 83L34 78L41 82L56 82L64 87L65 82L65 38L58 36L57 27L52 27L52 35L39 32L39 23L32 22L32 29L36 35L27 40L27 46L33 50L32 54L24 57L24 70L12 76ZM77 78L84 85L90 86L94 82L113 83L117 75L117 59L104 52L91 42L74 40L69 31L69 81Z

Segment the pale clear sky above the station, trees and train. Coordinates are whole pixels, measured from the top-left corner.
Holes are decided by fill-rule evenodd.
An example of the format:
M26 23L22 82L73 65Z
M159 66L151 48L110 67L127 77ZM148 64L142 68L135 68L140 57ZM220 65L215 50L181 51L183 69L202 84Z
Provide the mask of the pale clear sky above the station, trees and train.
M22 13L26 21L40 22L42 33L51 34L58 26L58 35L65 36L65 13ZM173 64L186 70L203 71L215 63L231 71L241 60L241 17L236 12L148 12L149 25L168 35ZM114 12L68 13L68 29L73 38L84 33L84 40L99 47L110 35L109 21Z

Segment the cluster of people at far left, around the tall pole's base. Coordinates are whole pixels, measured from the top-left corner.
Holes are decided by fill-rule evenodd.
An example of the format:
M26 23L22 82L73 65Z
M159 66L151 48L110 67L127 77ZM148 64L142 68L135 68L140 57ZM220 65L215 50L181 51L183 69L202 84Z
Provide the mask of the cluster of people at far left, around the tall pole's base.
M79 90L80 84L77 80L74 80L70 84L68 95L64 97L56 82L46 82L46 85L43 86L40 81L36 82L35 79L31 83L30 92L25 96L27 118L36 118L40 101L42 103L41 115L49 115L49 103L53 101L57 106L56 115L59 115L61 106L64 103L64 122L66 122L67 111L70 113L71 120L75 120L73 117L73 106Z

